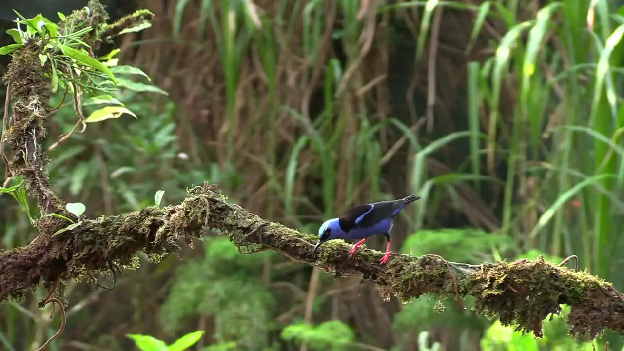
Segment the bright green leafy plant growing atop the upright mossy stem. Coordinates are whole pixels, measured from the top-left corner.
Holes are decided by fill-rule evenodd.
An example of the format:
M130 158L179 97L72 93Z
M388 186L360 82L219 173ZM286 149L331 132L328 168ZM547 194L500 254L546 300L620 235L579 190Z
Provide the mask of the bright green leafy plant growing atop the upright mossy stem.
M74 14L69 17L57 12L60 19L58 24L41 14L26 18L19 12L14 12L18 16L14 21L17 27L8 29L7 34L11 35L15 43L0 47L0 54L19 54L25 47L36 47L41 66L46 76L51 79L52 92L56 92L59 86L64 89L61 104L68 92L74 97L74 109L79 120L71 132L62 136L59 142L66 140L79 127L80 132L84 132L86 123L119 118L122 114L129 114L136 118L137 115L134 112L115 99L114 94L120 92L121 89L167 94L156 86L128 79L128 76L139 75L150 81L150 77L137 67L117 65L119 59L115 56L119 54L120 49L114 49L101 57L94 57L94 50L100 45L99 38L112 26L104 24L95 28L90 23L93 22L94 16L107 19L105 12L101 14L95 12L94 16L91 16L89 6L85 6L82 11L74 11ZM139 19L144 16L152 16L152 13L142 10L132 15ZM138 31L149 26L149 21L139 20L136 26L125 28L123 32ZM85 99L85 95L88 99ZM82 103L83 100L85 100L84 103ZM104 105L104 107L93 111L89 117L85 118L82 106L86 104ZM50 149L56 147L59 142L53 144Z

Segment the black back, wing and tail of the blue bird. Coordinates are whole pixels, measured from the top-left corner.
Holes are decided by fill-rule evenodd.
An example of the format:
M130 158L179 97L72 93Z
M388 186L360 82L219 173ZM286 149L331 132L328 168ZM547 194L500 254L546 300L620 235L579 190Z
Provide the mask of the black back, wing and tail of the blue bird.
M343 217L340 217L339 225L344 232L348 232L354 227L371 227L379 223L381 220L394 217L397 215L397 209L420 198L421 197L412 194L404 197L403 199L379 201L373 202L372 204L359 205L348 210Z

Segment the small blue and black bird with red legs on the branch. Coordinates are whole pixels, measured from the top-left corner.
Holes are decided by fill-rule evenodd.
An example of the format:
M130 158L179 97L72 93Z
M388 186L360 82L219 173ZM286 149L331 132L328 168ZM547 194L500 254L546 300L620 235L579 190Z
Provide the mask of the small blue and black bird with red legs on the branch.
M319 247L328 240L361 239L354 245L353 249L349 251L349 254L353 257L359 246L364 244L371 236L383 234L386 240L388 240L388 246L380 262L381 264L388 262L388 257L392 254L390 250L390 230L392 229L394 217L396 217L407 204L411 204L411 202L420 198L420 196L412 194L399 200L359 205L348 210L342 217L326 220L318 230L319 239L312 250L313 254L316 254Z

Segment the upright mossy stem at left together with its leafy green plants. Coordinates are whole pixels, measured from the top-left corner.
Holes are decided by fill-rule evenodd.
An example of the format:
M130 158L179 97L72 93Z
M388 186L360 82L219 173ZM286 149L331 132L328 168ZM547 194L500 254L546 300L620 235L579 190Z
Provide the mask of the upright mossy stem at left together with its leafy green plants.
M0 47L0 54L12 56L12 62L4 76L7 93L2 118L0 154L5 164L6 181L4 186L0 187L0 194L4 192L11 194L24 207L31 224L42 233L46 232L45 224L54 223L57 229L48 239L53 240L52 238L62 233L71 235L84 223L81 215L85 206L79 202L63 206L61 200L57 199L56 194L50 189L47 171L44 169L49 161L42 151L44 122L47 118L64 104L69 93L78 121L71 131L61 136L48 148L49 150L74 133L84 132L87 123L115 119L123 114L136 118L136 114L115 97L122 89L160 94L167 92L148 84L150 77L141 69L119 66L119 59L115 57L119 54L119 49L95 57L95 52L100 49L103 41L110 42L112 37L119 34L149 27L150 19L153 17L151 12L136 11L113 24L105 22L109 16L104 7L94 0L89 1L88 6L67 16L57 12L58 22L52 22L42 14L26 18L19 12L14 12L17 15L14 21L16 27L7 30L14 43ZM132 76L142 76L148 83L133 81ZM47 106L49 92L56 92L59 87L63 89L61 103L56 107ZM85 117L84 106L100 108ZM9 107L12 107L10 118ZM12 161L9 161L4 151L5 142L12 147L14 154ZM19 184L9 187L14 177ZM39 200L41 209L39 219L33 218L26 194ZM75 217L76 220L71 217ZM56 339L65 326L64 299L62 294L58 298L55 296L59 284L60 279L57 279L51 285L50 294L41 305L56 303L61 307L61 328L41 349L45 349L51 340Z

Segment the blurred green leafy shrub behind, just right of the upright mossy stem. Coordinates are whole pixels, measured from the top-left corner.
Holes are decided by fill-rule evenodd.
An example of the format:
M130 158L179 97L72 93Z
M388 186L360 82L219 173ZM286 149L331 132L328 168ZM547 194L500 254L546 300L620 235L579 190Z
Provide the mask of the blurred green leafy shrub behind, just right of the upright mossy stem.
M186 187L202 182L206 172L190 167L188 156L178 146L175 105L168 102L155 111L150 97L125 92L117 98L139 119L98 124L93 126L98 131L72 136L62 147L52 150L50 177L58 179L54 186L70 199L81 201L92 194L102 194L102 199L110 198L115 213L152 204L158 188L167 193L165 203L183 199ZM51 99L52 105L60 102L59 94ZM85 110L88 113L90 109ZM56 112L54 121L62 131L67 131L75 118L68 106ZM102 181L103 175L106 182ZM101 208L102 204L99 205Z

